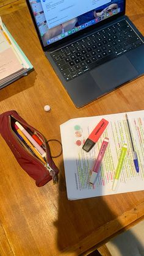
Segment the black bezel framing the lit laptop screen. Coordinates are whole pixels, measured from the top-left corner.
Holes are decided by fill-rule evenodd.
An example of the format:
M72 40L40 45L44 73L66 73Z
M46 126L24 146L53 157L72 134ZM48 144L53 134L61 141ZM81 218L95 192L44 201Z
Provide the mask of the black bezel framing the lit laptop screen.
M77 31L76 33L71 34L71 35L69 35L68 37L65 37L65 38L63 38L63 39L61 39L61 40L59 40L59 41L57 41L57 42L51 43L51 45L46 45L46 46L44 46L44 45L43 45L43 41L41 40L40 32L38 31L38 27L37 27L37 23L36 23L35 18L34 18L34 14L33 14L32 9L31 9L31 4L30 4L29 0L26 0L26 2L27 2L27 6L28 6L28 8L29 8L29 12L31 13L32 21L33 21L34 26L35 26L35 29L36 29L36 31L37 31L37 35L38 35L38 38L39 38L39 40L40 40L41 47L43 48L43 51L51 51L51 50L54 50L54 48L58 48L58 47L60 48L62 45L65 45L66 42L67 42L67 44L68 44L68 41L69 41L69 40L71 41L71 40L73 40L73 39L76 38L76 37L79 37L79 36L81 36L81 35L84 35L84 34L87 33L87 32L93 31L93 29L96 29L97 27L100 27L100 26L106 24L106 23L107 23L107 20L108 20L109 22L110 22L110 21L113 21L113 20L115 20L116 18L118 18L118 17L120 17L120 16L123 16L123 15L125 14L125 12L126 12L126 0L124 0L124 2L123 2L124 10L123 10L122 12L117 13L117 14L115 14L115 15L113 15L113 16L110 16L110 17L107 18L106 20L103 20L103 21L101 21L101 22L99 22L99 23L93 24L92 26L88 26L87 28L82 29L81 31Z

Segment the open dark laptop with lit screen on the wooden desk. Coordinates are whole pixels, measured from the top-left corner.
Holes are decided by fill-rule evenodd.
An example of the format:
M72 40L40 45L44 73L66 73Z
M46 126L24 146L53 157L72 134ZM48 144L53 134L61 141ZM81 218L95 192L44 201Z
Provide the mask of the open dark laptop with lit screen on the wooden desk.
M41 46L77 108L144 73L125 0L26 0Z

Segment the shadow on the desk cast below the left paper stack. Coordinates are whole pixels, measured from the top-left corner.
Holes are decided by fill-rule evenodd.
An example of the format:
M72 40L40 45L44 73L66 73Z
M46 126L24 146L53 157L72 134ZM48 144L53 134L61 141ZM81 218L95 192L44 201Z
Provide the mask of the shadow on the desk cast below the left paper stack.
M32 70L27 76L22 76L20 79L12 82L12 84L0 89L0 101L10 98L17 93L34 86L36 76L37 73ZM29 82L27 82L27 79Z

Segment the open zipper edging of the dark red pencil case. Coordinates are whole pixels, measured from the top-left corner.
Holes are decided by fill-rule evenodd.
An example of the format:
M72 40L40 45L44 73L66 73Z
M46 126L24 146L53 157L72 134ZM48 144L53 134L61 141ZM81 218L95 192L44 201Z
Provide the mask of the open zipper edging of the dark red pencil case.
M28 148L26 149L23 145L21 145L21 142L18 141L18 138L16 137L15 132L12 130L11 117L12 117L14 120L20 122L22 125L27 126L27 128L29 128L30 130L32 130L32 127L29 126L29 125L24 124L23 122L21 122L21 120L15 119L15 117L13 117L13 115L9 115L10 130L12 131L12 134L13 134L13 136L15 137L16 141L19 143L19 145L20 145L21 147L23 147L24 150L26 150L27 153L29 153L29 155L31 155L34 159L36 159L36 161L38 161L39 163L43 164L43 166L46 168L46 170L48 170L49 174L50 174L51 177L52 177L53 183L55 184L55 183L58 181L58 179L57 179L57 174L56 174L56 172L51 168L51 166L49 166L49 164L48 164L48 160L47 160L47 158L48 158L48 152L47 152L46 139L45 139L45 137L43 136L43 134L39 133L37 130L33 130L33 132L36 132L36 133L40 134L40 136L42 137L43 142L44 142L44 144L45 144L45 148L46 148L46 164L44 164L40 159L38 159L37 156L32 155L32 153L29 151L29 149L28 149ZM22 142L22 144L23 144L23 142Z

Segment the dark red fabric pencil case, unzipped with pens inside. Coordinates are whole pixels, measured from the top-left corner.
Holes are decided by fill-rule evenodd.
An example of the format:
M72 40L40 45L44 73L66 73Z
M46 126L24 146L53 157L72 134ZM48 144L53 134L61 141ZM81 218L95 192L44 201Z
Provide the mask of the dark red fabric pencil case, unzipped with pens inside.
M15 122L20 123L25 130L28 129L29 132L31 131L41 141L45 149L44 161L38 157L40 154L35 152L35 155L29 144L18 134L15 128ZM29 125L14 110L4 112L0 115L0 133L5 142L7 142L7 145L9 145L20 166L35 180L35 184L38 187L45 185L50 180L53 180L54 183L57 182L59 169L52 159L48 141L43 134Z

